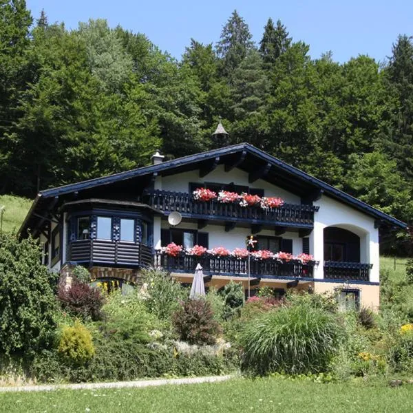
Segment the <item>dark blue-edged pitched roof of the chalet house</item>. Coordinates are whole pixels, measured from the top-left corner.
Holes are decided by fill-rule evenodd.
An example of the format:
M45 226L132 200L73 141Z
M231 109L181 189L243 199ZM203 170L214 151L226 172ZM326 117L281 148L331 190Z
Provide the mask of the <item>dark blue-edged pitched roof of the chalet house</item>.
M308 173L305 173L304 171L301 171L300 169L293 167L292 165L288 165L286 162L275 158L275 156L271 156L269 153L257 149L253 145L250 145L248 143L240 143L220 149L213 149L211 151L184 156L182 158L167 160L165 162L159 163L158 165L149 165L147 167L140 167L137 169L131 169L129 171L114 173L113 175L103 176L101 178L94 178L91 180L76 182L74 184L68 184L63 187L56 187L40 191L36 199L34 200L32 208L30 209L28 216L25 218L25 221L23 222L19 232L27 230L28 220L30 219L30 216L34 214L34 211L36 211L36 209L39 209L39 207L44 204L47 198L52 199L60 195L97 188L108 184L114 184L116 182L122 182L131 178L152 176L154 173L170 174L178 173L179 171L183 170L196 169L197 167L202 165L202 162L207 162L208 160L214 159L220 162L220 158L224 157L229 160L231 156L237 156L237 153L242 153L244 155L244 158L246 154L248 154L251 159L253 158L255 162L255 168L257 167L257 161L261 162L261 164L264 161L264 165L271 165L271 167L273 167L273 169L277 171L276 174L274 173L274 177L282 177L282 179L280 179L281 184L284 180L295 180L294 182L292 182L293 187L299 187L299 185L301 184L301 190L304 190L303 185L307 185L307 187L309 186L312 189L319 189L323 191L325 195L335 198L343 202L344 204L348 204L351 207L358 209L359 211L363 211L364 213L371 215L377 220L386 222L391 226L397 226L399 228L405 228L407 226L405 222L397 220L396 218L393 218L392 216L383 213L382 211L379 211L374 207L371 207L369 204L366 204L366 202L362 202L361 200L354 198L352 195L340 191L339 189L332 187L330 184L327 184L326 182L323 182L322 180L319 180L314 176L310 176ZM235 162L232 162L233 165L236 164L236 160ZM241 167L241 165L238 167Z

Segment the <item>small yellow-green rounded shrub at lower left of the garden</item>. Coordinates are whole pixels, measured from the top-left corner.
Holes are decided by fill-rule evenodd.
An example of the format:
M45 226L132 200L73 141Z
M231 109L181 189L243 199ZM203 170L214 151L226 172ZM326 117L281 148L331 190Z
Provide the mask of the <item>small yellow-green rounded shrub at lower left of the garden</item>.
M82 366L95 354L92 335L79 321L76 321L74 326L65 326L58 352L69 364Z

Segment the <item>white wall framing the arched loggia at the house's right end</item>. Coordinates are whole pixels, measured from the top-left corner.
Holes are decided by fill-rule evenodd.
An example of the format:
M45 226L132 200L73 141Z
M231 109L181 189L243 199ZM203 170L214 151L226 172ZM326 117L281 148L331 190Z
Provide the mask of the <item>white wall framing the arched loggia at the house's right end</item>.
M360 261L373 264L370 282L379 282L379 230L374 228L374 218L326 195L322 195L314 204L319 206L319 211L315 213L314 230L310 235L310 253L320 262L315 277L322 278L324 228L337 226L359 235Z

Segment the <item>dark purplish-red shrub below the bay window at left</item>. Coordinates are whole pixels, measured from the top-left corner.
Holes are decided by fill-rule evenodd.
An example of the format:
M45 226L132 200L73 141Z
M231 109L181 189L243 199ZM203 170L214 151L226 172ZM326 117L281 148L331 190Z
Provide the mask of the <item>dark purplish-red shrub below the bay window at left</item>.
M63 310L67 310L75 317L81 317L84 320L92 319L93 321L102 318L101 309L105 297L98 288L74 279L72 285L68 288L65 286L59 287L57 297Z

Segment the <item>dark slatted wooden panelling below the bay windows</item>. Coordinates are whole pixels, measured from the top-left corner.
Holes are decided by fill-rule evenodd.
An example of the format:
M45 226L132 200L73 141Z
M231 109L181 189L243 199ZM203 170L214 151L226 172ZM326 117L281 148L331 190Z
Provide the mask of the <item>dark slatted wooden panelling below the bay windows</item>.
M69 244L67 261L119 266L151 266L152 248L140 242L77 240Z

